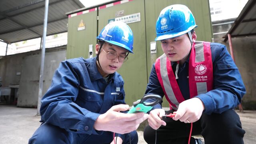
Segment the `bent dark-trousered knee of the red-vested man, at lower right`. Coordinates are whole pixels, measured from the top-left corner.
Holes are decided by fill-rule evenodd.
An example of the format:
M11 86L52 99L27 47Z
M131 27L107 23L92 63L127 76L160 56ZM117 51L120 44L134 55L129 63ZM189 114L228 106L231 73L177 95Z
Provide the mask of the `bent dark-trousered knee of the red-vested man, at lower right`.
M202 115L202 136L205 142L216 142L224 139L223 143L242 143L245 131L238 114L234 110L227 110L221 114Z

